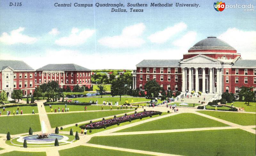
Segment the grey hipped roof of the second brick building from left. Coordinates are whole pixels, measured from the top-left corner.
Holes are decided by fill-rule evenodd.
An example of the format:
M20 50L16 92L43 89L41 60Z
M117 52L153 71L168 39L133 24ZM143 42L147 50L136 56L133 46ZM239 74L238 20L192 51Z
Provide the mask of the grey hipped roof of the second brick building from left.
M46 66L43 66L37 70L64 70L64 71L81 71L81 70L85 70L85 71L91 71L88 68L82 67L82 66L78 66L76 64L48 64Z

